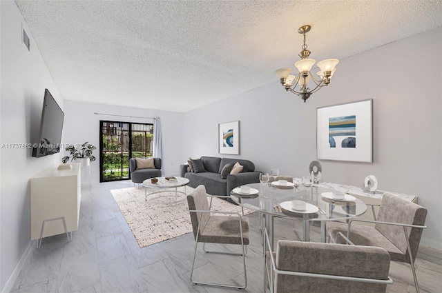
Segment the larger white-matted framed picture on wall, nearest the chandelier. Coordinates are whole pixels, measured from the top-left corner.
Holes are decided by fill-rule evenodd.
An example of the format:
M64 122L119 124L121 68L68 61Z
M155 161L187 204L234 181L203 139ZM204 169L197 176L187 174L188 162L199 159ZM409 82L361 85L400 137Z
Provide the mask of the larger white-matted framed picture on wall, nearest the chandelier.
M373 163L373 99L316 109L319 160Z

